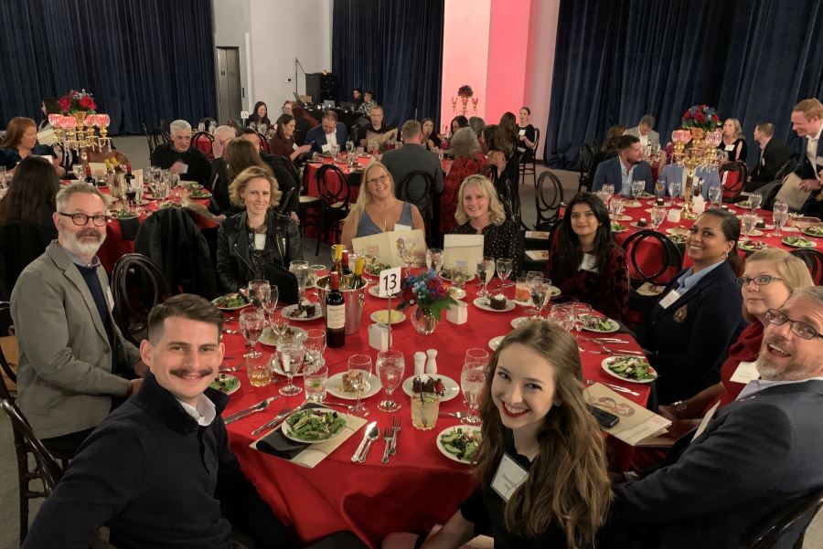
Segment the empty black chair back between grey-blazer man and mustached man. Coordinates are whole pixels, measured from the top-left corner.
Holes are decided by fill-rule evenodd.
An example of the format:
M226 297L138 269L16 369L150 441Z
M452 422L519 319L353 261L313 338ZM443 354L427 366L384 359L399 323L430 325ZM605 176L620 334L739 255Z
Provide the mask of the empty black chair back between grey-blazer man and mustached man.
M125 254L114 264L114 322L139 345L148 334L148 314L169 296L168 281L157 264L143 254Z

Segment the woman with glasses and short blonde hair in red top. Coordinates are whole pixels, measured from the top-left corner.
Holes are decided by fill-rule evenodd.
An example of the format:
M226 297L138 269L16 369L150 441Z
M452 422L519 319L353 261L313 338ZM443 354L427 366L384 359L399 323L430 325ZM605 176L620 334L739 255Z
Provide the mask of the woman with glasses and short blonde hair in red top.
M794 290L815 285L806 263L780 248L754 252L744 267L738 284L743 295L743 319L750 323L729 347L728 358L721 366L721 383L671 406L659 406L659 412L673 421L698 420L716 402L721 406L733 402L745 385L732 381L732 375L738 367L750 367L757 360L769 324L766 312L783 307Z

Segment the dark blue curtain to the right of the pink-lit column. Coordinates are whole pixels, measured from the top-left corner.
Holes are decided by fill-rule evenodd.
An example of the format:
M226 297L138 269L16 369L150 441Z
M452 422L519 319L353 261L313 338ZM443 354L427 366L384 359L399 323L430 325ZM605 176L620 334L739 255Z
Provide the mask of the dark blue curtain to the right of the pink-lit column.
M818 0L561 0L558 29L544 156L555 167L645 113L667 143L698 103L741 121L753 163L757 123L799 150L791 109L823 97Z

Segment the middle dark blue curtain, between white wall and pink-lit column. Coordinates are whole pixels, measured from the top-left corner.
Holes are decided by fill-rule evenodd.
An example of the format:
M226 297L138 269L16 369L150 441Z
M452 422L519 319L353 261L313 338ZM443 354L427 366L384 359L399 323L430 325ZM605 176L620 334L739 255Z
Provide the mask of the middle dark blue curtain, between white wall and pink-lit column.
M335 0L332 72L339 99L374 91L384 123L440 118L443 0Z

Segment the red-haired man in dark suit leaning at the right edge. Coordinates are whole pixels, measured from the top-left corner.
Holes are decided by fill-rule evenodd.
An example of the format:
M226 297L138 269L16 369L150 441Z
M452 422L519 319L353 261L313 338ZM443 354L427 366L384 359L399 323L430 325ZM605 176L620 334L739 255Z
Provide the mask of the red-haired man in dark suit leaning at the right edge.
M802 212L807 216L823 216L823 194L821 194L820 172L823 171L823 104L815 98L802 100L792 109L792 130L805 137L805 147L800 156L796 174L800 176L800 188L811 191Z

